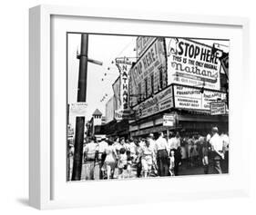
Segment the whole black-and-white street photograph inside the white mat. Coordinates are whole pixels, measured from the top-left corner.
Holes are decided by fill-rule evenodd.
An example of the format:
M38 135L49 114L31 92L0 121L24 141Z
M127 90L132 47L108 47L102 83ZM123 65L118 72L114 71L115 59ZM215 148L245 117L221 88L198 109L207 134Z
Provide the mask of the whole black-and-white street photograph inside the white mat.
M67 181L228 174L227 39L67 32Z

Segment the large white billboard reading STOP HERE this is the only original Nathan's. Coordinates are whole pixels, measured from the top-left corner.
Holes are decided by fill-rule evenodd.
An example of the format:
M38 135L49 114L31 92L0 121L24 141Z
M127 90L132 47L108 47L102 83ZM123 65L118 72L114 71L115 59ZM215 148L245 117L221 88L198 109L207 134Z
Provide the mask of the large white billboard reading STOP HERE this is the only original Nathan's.
M209 45L183 39L167 39L169 83L220 90L220 59Z

